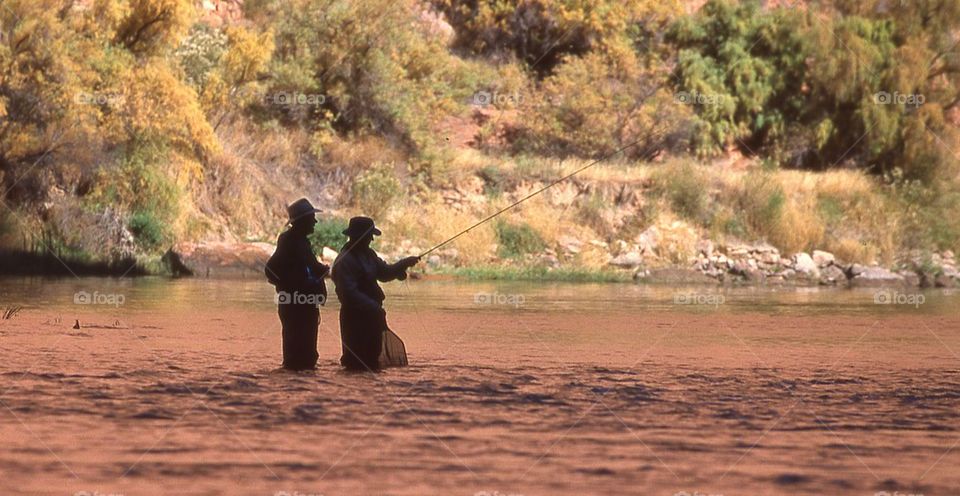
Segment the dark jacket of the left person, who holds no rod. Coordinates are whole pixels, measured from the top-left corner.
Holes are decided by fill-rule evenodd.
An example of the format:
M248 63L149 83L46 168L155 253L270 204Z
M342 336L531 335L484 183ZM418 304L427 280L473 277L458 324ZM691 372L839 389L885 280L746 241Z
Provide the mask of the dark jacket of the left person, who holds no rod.
M277 238L277 251L264 269L267 280L277 292L322 294L324 297L327 285L323 278L327 271L327 266L317 261L307 237L289 229Z

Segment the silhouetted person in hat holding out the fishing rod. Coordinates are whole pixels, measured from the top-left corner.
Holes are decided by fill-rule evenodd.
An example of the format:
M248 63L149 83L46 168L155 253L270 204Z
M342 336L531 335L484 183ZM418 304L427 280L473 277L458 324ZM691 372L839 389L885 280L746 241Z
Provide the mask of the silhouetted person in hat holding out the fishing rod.
M381 234L369 217L354 217L343 234L349 238L333 262L333 281L340 299L340 364L351 370L377 370L387 327L383 290L377 281L407 278L407 269L420 261L407 257L388 264L370 248Z

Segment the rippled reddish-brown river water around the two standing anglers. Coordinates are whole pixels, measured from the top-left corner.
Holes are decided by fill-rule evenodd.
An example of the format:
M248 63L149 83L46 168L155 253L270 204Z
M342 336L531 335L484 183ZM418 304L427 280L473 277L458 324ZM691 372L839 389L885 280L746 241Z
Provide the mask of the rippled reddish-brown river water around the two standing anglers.
M0 282L0 493L960 493L960 294L388 289L410 367L294 374L261 281Z

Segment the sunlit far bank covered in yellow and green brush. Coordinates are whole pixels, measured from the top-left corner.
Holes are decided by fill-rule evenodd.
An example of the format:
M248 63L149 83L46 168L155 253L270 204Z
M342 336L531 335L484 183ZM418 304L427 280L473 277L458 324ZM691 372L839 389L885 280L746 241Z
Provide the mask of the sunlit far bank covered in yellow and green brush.
M2 0L4 246L272 241L307 196L318 247L364 213L414 252L601 160L443 264L960 249L960 0L209 3Z

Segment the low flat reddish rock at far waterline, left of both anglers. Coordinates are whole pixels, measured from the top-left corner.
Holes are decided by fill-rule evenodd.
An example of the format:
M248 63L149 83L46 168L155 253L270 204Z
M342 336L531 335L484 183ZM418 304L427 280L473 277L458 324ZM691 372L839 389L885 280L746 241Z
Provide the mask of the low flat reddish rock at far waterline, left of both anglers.
M276 249L268 243L177 243L161 261L175 277L264 277Z

